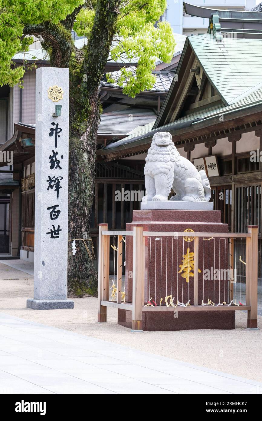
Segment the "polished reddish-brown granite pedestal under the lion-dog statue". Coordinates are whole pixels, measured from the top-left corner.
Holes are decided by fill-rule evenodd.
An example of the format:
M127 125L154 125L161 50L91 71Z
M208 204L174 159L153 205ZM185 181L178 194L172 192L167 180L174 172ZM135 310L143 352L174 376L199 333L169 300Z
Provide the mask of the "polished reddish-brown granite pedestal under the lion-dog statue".
M145 304L152 301L166 306L164 299L171 295L176 301L186 304L193 302L193 269L186 272L186 262L191 262L194 252L193 232L228 232L228 225L221 223L221 213L215 210L134 210L133 221L126 225L127 231L143 224L143 231L171 232L170 237L146 237L145 250ZM176 237L176 232L193 230L189 240ZM198 305L211 300L214 304L228 302L228 240L223 237L199 237ZM126 301L132 302L132 237L126 238ZM214 276L215 270L219 275ZM222 276L221 276L222 274ZM183 277L183 276L184 277ZM151 301L151 302L152 302ZM153 303L152 303L153 304ZM124 310L119 312L119 323L124 323ZM233 329L234 311L179 311L144 312L143 330L184 330L184 329Z

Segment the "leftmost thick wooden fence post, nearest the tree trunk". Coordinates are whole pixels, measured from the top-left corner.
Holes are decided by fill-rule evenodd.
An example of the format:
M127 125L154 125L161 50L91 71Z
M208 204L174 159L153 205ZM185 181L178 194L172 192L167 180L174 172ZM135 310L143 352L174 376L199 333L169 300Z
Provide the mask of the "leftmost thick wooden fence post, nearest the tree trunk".
M108 230L108 224L98 226L98 322L106 322L106 306L101 301L109 301L109 235L102 235Z

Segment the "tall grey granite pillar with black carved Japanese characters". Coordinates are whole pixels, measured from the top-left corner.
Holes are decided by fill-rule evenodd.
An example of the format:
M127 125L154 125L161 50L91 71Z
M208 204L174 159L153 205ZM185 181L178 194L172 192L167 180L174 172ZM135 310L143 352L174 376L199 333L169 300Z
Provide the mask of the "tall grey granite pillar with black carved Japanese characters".
M67 300L69 69L36 70L35 120L34 298L26 306L73 308Z

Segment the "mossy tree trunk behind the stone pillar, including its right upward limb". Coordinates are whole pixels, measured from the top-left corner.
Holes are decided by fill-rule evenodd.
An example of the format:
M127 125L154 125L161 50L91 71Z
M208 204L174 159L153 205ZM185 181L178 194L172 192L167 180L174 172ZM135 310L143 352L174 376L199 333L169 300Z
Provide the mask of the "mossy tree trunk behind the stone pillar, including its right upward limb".
M103 75L119 0L98 0L95 21L78 71L71 67L69 116L69 240L84 238L91 250L90 220L95 185L96 138L100 119L98 86ZM98 276L82 240L68 253L68 292L97 296ZM97 257L97 256L96 256Z

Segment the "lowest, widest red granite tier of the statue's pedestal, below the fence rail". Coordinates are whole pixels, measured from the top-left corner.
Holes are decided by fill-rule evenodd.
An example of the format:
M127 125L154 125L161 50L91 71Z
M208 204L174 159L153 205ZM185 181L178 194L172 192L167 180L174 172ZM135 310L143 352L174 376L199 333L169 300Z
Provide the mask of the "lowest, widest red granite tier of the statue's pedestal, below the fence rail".
M132 328L132 312L121 310L118 324ZM126 313L124 315L124 312ZM193 313L193 314L192 314ZM196 329L235 329L235 312L143 312L142 330L196 330Z

